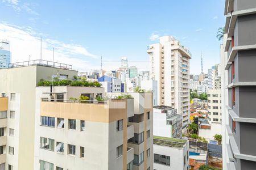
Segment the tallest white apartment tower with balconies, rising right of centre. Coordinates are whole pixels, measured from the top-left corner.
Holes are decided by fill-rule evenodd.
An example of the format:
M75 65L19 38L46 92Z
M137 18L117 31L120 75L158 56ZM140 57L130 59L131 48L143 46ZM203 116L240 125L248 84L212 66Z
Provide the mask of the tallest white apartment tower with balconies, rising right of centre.
M150 78L158 82L158 104L177 109L183 131L189 123L189 59L191 53L172 36L148 46Z

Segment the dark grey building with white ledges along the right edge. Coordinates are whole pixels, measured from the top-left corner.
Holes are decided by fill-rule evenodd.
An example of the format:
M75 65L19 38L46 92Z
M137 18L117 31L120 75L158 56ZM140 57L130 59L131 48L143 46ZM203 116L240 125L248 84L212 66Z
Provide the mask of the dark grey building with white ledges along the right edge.
M225 1L221 46L224 169L256 167L256 1Z

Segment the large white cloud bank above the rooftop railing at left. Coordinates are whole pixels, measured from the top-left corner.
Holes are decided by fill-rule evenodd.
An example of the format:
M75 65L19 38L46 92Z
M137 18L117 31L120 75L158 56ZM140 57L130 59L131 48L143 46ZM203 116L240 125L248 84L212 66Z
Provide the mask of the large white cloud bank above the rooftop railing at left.
M11 62L40 59L40 35L30 27L16 27L0 23L1 39L11 41ZM65 42L43 39L42 59L52 61L52 48L55 47L55 62L68 63L73 69L85 71L93 67L97 56L91 54L83 46Z

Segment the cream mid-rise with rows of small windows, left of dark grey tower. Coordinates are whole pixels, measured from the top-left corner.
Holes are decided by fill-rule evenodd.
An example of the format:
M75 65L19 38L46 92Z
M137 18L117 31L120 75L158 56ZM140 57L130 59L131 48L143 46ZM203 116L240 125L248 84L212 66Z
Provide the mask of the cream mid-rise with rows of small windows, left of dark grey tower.
M214 123L221 123L221 90L208 90L208 118Z

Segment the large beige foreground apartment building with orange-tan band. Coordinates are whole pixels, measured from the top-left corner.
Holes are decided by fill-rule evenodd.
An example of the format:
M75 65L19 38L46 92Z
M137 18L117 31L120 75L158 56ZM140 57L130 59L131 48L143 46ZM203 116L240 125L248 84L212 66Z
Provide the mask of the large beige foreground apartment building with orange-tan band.
M104 88L37 87L74 75L57 63L0 70L0 169L153 169L152 94L94 101ZM90 101L69 100L81 95Z

